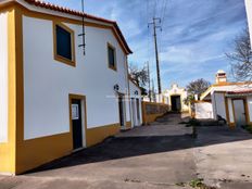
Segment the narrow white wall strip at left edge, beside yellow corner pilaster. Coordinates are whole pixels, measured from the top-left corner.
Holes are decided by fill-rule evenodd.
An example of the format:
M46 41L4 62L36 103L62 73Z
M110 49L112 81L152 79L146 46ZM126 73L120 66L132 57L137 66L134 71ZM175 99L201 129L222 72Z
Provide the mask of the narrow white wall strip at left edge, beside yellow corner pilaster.
M0 13L0 142L8 141L8 13Z

